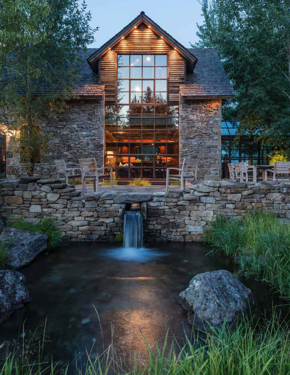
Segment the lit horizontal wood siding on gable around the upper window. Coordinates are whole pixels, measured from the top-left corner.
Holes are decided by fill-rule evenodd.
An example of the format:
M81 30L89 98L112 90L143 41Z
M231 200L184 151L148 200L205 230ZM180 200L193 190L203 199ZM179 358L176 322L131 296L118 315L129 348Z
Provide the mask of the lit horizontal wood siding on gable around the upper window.
M151 28L141 24L100 60L100 84L106 103L116 102L117 54L168 54L168 102L179 101L179 86L185 84L185 60Z

